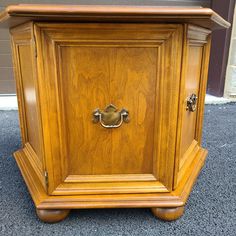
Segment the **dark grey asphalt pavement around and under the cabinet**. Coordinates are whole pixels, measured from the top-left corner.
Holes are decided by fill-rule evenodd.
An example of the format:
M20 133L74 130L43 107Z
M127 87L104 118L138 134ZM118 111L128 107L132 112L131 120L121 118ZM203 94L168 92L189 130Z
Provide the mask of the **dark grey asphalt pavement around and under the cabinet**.
M208 105L203 145L209 156L176 222L148 209L73 211L58 224L40 222L12 158L20 147L16 111L0 112L0 235L236 235L236 104Z

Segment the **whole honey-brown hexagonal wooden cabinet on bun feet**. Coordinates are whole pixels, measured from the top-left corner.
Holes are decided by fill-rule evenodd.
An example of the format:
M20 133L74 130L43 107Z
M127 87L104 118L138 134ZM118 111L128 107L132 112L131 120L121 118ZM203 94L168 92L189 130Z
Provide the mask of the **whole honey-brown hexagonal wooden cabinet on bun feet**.
M183 206L204 163L210 9L8 7L23 147L40 219L70 209ZM204 26L204 27L203 27Z

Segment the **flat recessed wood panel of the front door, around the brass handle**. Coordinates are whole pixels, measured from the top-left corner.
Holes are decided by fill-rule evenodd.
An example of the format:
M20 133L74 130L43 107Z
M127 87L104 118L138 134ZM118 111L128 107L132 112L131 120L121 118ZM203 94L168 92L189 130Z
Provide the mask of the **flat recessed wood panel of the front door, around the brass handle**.
M69 174L152 173L157 48L78 45L62 47L60 54L63 106L71 117ZM92 111L109 104L127 108L129 124L113 130L93 124Z

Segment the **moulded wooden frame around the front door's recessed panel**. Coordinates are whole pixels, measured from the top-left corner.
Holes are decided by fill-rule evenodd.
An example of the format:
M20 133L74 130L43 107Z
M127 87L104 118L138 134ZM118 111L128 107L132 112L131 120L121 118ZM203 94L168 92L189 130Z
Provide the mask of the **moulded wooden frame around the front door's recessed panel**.
M61 28L61 30L60 30ZM48 193L52 195L98 193L147 193L172 190L182 57L183 26L180 24L47 24L34 25L38 48L38 78ZM106 38L104 34L106 32ZM108 34L109 32L109 34ZM80 39L78 40L78 35ZM91 38L89 38L89 35ZM148 37L147 37L148 35ZM95 37L95 39L94 39ZM128 40L127 40L128 37ZM147 39L148 38L148 39ZM86 43L85 43L86 40ZM158 48L157 88L154 130L154 171L152 175L88 176L67 175L66 127L62 114L58 47L66 43L92 43L114 47L114 43ZM107 43L108 42L108 43ZM50 63L50 66L48 65ZM54 70L51 70L54 68ZM173 83L175 80L175 83ZM50 130L50 132L48 132ZM155 165L156 164L156 165ZM135 181L135 178L137 180ZM78 183L80 181L80 183ZM91 180L89 180L91 181ZM100 182L101 181L101 182ZM123 182L122 182L123 181ZM106 183L103 183L106 182Z

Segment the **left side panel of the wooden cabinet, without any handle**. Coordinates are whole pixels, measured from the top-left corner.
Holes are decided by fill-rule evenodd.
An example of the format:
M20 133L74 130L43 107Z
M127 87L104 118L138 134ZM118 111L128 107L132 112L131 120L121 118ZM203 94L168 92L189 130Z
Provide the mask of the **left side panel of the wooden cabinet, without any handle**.
M42 135L32 23L11 29L23 151L44 184Z

